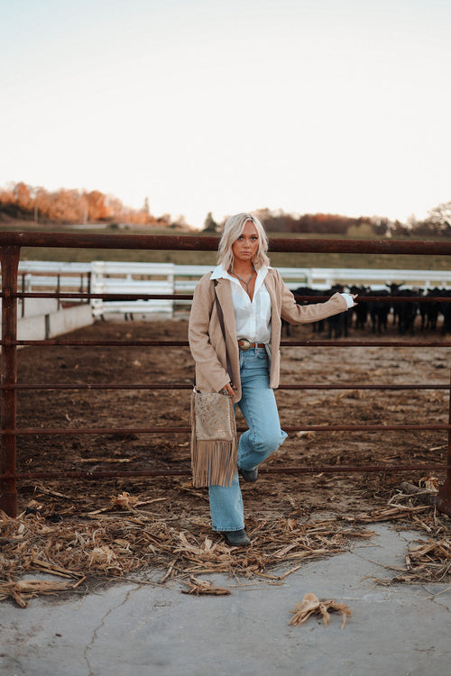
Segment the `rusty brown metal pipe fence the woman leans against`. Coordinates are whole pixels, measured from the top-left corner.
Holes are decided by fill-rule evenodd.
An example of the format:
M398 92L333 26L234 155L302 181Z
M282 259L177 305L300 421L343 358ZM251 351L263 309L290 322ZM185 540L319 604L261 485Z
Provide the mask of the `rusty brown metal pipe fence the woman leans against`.
M185 294L93 294L89 291L80 290L77 293L65 291L56 292L32 292L18 291L18 266L21 249L23 247L46 247L46 248L86 248L86 249L140 249L140 250L163 250L163 251L216 251L218 239L216 237L198 235L130 235L130 234L88 234L88 233L0 233L0 262L2 269L2 360L1 360L1 457L0 457L0 509L9 516L17 515L17 481L37 478L85 478L101 479L116 477L154 477L163 475L189 474L189 470L139 470L139 471L63 471L63 472L24 472L16 469L16 440L18 436L33 434L154 434L154 433L186 433L189 434L189 426L148 426L126 428L18 428L16 425L17 392L26 389L189 389L189 384L160 383L148 385L143 383L113 383L96 385L91 383L71 384L36 384L17 382L17 349L24 345L79 345L84 347L94 346L176 346L188 347L188 341L74 341L64 339L50 340L18 340L17 339L17 306L18 301L24 298L71 298L82 302L90 298L102 298L104 300L136 300L171 298L173 300L187 300L191 296ZM315 239L272 239L270 251L290 251L308 253L378 253L378 254L410 254L410 255L451 255L451 242L398 242L379 240L315 240ZM302 299L302 298L299 298ZM308 300L308 297L305 298ZM326 297L324 298L326 299ZM321 300L317 297L316 300ZM436 302L443 298L434 297L372 297L372 300L390 302L402 300L409 302ZM449 299L451 300L451 298ZM361 298L359 302L366 302ZM451 342L446 341L366 341L346 340L342 341L282 341L282 346L334 346L345 347L451 347ZM369 383L344 384L308 384L287 385L281 384L281 389L446 389L451 390L451 384L423 384L423 385L371 385ZM450 397L451 399L451 397ZM434 463L421 464L383 464L383 465L340 465L340 466L299 466L290 468L262 469L263 472L283 473L317 473L317 472L381 472L381 471L407 471L407 470L440 470L446 472L446 480L438 492L436 498L437 508L451 516L451 400L448 410L447 424L437 425L284 425L286 432L303 431L390 431L390 430L447 430L447 456L446 464Z

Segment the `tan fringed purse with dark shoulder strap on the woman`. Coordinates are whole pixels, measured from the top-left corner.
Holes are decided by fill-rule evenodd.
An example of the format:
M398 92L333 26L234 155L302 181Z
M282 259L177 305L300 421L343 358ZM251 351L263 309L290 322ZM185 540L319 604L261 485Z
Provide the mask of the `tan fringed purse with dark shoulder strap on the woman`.
M216 310L226 340L224 316L216 296ZM227 355L229 377L232 370ZM218 392L191 394L191 469L193 486L230 486L238 462L235 409L232 397Z

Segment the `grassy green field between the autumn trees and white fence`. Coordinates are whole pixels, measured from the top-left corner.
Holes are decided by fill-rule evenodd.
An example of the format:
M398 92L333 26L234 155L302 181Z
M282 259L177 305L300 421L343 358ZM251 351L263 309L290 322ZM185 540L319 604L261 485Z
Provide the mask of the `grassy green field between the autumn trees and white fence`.
M43 232L78 232L65 226L41 226L22 224L22 227L2 226L2 230L41 230ZM184 234L171 228L139 228L118 231L115 228L102 227L80 231L83 233L126 233L126 234ZM198 234L198 233L196 233ZM301 238L306 235L293 233L269 233L270 237ZM307 235L308 238L345 239L332 235ZM375 268L375 269L450 269L449 256L414 256L394 254L357 254L357 253L270 253L272 265L277 268ZM121 260L136 262L173 262L179 265L215 265L215 251L141 251L116 249L43 249L41 247L23 247L21 260L67 260L89 262L91 260Z

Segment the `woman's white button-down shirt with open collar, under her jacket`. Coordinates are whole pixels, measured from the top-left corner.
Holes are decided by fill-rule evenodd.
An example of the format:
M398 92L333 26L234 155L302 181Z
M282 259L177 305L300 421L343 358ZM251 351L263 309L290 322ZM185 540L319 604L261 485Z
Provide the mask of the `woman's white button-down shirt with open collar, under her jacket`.
M267 272L266 267L258 270L251 300L238 279L229 275L222 265L213 270L211 279L231 281L237 340L247 338L251 343L271 343L271 297L264 286Z

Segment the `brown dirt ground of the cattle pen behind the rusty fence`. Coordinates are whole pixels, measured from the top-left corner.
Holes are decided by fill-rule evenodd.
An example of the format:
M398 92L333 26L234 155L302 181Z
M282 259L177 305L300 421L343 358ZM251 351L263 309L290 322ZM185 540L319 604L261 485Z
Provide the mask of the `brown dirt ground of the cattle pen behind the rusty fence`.
M186 340L188 319L108 320L71 333L78 340ZM294 340L314 339L311 327ZM369 338L353 331L352 338ZM384 339L398 340L393 328ZM419 334L417 340L437 338ZM451 348L285 347L282 383L449 383ZM21 383L192 382L194 364L182 347L29 347L18 355ZM447 423L446 390L279 390L281 425ZM189 389L43 390L18 393L19 427L115 428L189 425ZM240 416L238 415L240 423ZM446 431L294 432L265 467L368 465L446 460ZM189 468L189 434L36 435L18 438L18 470L148 470ZM381 507L402 480L427 471L262 474L244 484L246 517L277 519L356 514ZM444 475L438 475L439 482ZM36 499L43 513L67 519L101 509L126 491L179 525L208 523L207 489L189 477L108 480L23 480L19 507Z

